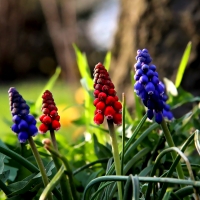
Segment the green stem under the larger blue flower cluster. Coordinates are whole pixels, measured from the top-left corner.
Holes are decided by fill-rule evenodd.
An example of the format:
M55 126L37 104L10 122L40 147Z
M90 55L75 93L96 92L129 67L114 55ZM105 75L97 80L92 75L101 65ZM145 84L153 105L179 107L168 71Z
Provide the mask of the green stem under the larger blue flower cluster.
M165 138L167 140L169 147L176 147L164 119L162 120L161 127L163 129L163 133L165 135ZM177 156L176 152L172 151L171 155L172 155L173 160L175 160ZM183 173L180 162L177 164L176 171L178 173L179 179L184 179L184 173Z

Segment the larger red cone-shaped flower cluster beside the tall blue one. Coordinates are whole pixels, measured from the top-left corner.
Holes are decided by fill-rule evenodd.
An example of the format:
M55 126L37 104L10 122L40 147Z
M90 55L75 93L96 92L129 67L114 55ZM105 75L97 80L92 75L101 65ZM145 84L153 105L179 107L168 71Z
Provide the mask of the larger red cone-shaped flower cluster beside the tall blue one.
M113 120L117 125L122 123L122 104L116 96L115 86L112 83L105 67L98 63L94 68L94 97L93 102L96 107L94 122L99 125L104 121Z

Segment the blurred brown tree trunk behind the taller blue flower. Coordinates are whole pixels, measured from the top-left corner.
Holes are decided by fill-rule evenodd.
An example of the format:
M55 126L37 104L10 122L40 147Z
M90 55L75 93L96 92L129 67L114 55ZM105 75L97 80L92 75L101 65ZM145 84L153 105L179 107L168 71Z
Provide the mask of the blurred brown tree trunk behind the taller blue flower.
M118 92L125 92L133 105L130 72L137 49L147 48L159 77L175 80L184 49L192 41L192 52L182 86L195 93L200 84L199 0L121 0L119 28L112 49L111 73ZM200 89L199 89L200 94Z

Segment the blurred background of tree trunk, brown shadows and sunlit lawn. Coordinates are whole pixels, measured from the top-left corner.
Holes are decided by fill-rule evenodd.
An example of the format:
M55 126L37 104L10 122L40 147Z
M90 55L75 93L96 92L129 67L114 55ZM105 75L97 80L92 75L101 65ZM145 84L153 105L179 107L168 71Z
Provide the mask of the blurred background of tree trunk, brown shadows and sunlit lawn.
M1 130L11 132L6 124L9 87L35 102L59 65L62 72L51 90L61 115L64 134L59 137L73 142L82 134L72 124L83 113L79 105L84 101L73 43L86 53L91 70L111 51L112 81L119 97L125 92L134 108L130 72L137 49L147 48L160 78L174 81L189 41L192 52L181 86L199 95L199 0L1 0ZM2 133L1 138L11 141Z

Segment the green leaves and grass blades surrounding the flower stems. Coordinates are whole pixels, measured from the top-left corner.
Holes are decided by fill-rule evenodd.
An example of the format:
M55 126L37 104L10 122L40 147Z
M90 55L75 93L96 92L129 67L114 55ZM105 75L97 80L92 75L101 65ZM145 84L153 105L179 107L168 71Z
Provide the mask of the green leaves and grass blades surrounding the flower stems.
M6 196L1 199L42 200L52 191L54 199L60 200L63 198L61 185L64 179L62 176L66 176L69 180L69 183L67 181L64 185L66 191L71 191L67 195L71 195L71 198L73 196L74 200L117 199L117 181L122 182L124 200L192 199L192 196L197 198L200 187L198 131L200 129L200 97L193 96L180 86L188 62L191 43L188 44L184 52L175 85L168 79L164 80L169 97L168 103L172 109L181 109L186 104L191 106L191 109L184 115L167 122L167 128L175 147L168 146L165 131L161 126L147 120L147 115L144 114L145 109L139 98L134 97L135 102L132 106L135 109L132 112L126 106L124 98L122 102L123 123L122 126L115 128L120 149L121 176L116 175L113 147L107 125L96 126L93 123L93 81L86 55L76 45L73 47L81 75L80 84L84 89L82 94L84 102L78 106L74 102L70 105L66 104L63 112L70 108L78 108L81 114L72 123L75 130L81 129L81 134L75 141L69 143L64 139L68 132L64 133L64 136L58 132L56 134L58 152L54 152L48 145L42 144L41 140L49 135L39 135L35 138L35 144L49 179L47 187L43 185L42 176L30 145L15 146L16 137L12 138L13 144L6 142L6 140L0 141L0 188L1 193ZM111 53L108 52L104 60L107 70L110 62ZM60 68L40 91L53 88L59 74ZM131 78L132 84L134 84L133 72ZM29 105L31 111L38 116L41 94L36 99L34 102L30 101ZM12 124L7 117L4 121L6 126ZM4 133L3 129L1 131ZM172 151L177 153L175 159L170 154ZM57 161L55 159L52 161L52 157L56 157ZM60 166L58 169L55 167L56 163ZM178 170L176 171L176 167L178 163L181 164L185 179L177 178ZM74 195L74 190L77 197Z

